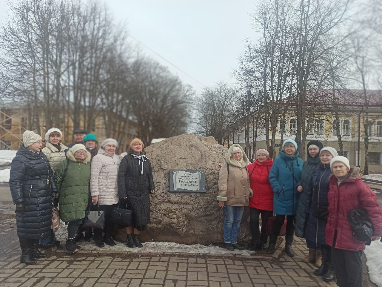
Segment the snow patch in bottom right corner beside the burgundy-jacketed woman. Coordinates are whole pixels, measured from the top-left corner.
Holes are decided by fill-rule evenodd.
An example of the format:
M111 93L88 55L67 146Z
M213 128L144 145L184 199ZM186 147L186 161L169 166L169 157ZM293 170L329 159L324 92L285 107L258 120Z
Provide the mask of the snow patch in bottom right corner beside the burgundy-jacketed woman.
M382 287L382 242L372 241L370 246L366 246L364 251L369 268L370 280Z

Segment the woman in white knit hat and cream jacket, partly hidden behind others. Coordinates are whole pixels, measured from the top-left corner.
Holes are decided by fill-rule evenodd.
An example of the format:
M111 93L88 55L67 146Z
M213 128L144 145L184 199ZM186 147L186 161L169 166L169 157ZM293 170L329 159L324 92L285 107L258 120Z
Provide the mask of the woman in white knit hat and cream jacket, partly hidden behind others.
M45 133L45 148L41 151L47 156L53 172L56 171L58 164L66 159L66 152L69 150L67 146L60 143L61 139L62 132L58 128L51 128ZM58 198L55 198L55 204L58 204ZM55 240L52 230L51 236L40 239L39 247L50 248L59 244L60 242Z

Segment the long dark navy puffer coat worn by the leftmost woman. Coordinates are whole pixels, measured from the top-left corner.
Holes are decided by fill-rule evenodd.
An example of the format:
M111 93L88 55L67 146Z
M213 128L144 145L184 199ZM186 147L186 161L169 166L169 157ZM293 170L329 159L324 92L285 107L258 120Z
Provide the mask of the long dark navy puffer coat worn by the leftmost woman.
M39 239L50 236L52 193L57 193L49 161L43 152L21 145L11 164L9 187L13 203L24 203L16 212L17 235Z

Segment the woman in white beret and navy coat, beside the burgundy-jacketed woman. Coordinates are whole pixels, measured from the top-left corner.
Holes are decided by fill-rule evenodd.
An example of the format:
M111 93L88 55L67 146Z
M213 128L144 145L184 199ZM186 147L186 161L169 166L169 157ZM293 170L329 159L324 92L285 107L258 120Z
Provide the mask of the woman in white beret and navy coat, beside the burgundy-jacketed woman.
M331 147L321 149L320 164L312 175L305 204L305 212L309 214L305 232L306 240L315 243L322 253L321 266L313 273L322 276L326 282L335 278L334 267L330 258L330 246L325 242L325 227L329 216L329 177L332 175L330 160L335 156L338 156L335 149Z

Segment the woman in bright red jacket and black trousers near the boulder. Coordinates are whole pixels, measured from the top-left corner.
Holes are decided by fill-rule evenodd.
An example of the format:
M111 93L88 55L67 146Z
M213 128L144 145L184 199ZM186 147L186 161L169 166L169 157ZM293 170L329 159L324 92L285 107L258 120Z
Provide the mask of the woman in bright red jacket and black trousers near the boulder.
M252 232L253 250L266 250L268 237L265 234L265 222L273 213L273 190L268 180L273 160L269 158L266 149L256 152L256 161L248 165L253 196L249 198L250 225ZM259 230L259 216L261 214L261 235Z

